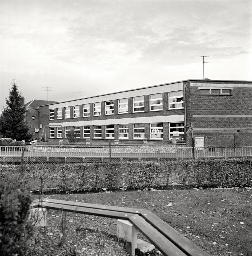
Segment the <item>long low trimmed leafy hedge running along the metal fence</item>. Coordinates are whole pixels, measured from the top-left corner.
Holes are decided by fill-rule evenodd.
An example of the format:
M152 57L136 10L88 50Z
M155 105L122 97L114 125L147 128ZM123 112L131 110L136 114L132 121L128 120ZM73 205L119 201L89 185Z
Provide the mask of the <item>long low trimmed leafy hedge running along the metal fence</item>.
M18 166L1 166L0 174ZM199 186L251 186L252 158L182 159L167 162L43 163L27 164L32 188L70 188L74 191L142 189L171 182Z

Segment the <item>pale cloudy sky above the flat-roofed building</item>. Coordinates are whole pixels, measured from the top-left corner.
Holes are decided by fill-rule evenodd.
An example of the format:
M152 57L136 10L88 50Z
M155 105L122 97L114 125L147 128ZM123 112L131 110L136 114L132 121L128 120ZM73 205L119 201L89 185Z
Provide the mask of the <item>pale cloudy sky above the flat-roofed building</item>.
M1 0L0 109L185 79L252 80L251 0Z

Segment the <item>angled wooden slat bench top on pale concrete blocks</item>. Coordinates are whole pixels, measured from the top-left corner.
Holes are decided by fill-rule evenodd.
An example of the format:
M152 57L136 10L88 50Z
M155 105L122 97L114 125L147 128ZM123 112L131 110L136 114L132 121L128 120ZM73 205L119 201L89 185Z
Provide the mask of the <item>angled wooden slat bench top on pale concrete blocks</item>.
M31 207L128 220L165 256L209 256L148 210L50 198L34 200Z

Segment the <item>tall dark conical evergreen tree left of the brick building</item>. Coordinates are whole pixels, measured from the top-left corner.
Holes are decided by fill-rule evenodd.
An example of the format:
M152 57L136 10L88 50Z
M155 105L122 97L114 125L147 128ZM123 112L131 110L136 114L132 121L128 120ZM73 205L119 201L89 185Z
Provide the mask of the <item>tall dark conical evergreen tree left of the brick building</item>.
M11 83L10 94L6 99L6 108L3 108L0 116L0 133L5 138L12 138L18 141L29 140L32 134L25 123L25 108L22 106L21 93L15 83Z

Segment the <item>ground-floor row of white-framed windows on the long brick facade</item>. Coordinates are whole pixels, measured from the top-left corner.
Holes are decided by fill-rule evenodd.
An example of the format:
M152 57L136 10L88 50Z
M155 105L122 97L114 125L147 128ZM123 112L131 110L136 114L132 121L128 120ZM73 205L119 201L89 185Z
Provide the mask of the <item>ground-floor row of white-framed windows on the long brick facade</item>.
M65 135L69 134L71 127L64 127ZM90 129L91 126L83 126L83 138L90 139ZM102 138L102 126L94 125L94 139ZM74 126L74 137L80 139L80 126ZM119 139L128 139L129 127L127 124L119 124ZM66 136L65 136L66 137ZM144 139L145 129L144 123L133 124L133 138L134 139ZM55 129L50 127L50 138L55 138ZM57 138L62 138L62 127L57 127ZM115 138L115 125L106 125L105 130L106 139ZM181 139L184 138L184 123L169 123L169 138ZM163 123L151 123L150 124L150 139L162 140L163 139Z

